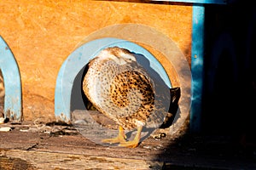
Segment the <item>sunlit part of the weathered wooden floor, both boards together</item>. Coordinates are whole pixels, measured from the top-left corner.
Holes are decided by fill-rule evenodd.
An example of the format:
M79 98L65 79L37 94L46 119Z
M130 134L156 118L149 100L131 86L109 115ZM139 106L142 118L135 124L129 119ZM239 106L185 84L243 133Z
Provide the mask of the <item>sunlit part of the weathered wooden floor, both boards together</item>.
M159 160L163 140L151 138L130 149L95 144L69 125L0 125L4 127L10 131L0 132L0 169L160 169L164 165Z

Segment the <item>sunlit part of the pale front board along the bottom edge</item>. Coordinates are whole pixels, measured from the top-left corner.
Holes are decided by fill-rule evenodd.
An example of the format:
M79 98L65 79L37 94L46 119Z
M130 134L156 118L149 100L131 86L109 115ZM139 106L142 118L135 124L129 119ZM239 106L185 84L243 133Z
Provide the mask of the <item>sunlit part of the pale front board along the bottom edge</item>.
M23 162L29 169L160 169L162 162L113 158L106 156L86 156L44 151L1 150L0 167L17 168L6 158Z

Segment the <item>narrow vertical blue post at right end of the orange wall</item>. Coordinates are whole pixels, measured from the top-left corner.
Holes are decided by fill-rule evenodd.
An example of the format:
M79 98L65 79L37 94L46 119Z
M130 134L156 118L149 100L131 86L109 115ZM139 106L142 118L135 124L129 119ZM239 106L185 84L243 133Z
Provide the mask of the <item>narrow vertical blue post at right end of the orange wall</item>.
M201 98L204 66L204 21L203 5L193 6L192 51L191 51L191 110L190 129L192 132L201 130Z

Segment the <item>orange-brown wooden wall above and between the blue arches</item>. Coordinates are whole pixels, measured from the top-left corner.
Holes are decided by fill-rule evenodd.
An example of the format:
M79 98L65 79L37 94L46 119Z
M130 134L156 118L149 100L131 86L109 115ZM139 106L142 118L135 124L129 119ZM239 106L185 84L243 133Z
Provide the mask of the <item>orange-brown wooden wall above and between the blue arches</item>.
M91 32L135 23L177 42L190 63L192 7L110 1L0 0L0 35L20 68L24 120L55 119L55 81L69 54Z

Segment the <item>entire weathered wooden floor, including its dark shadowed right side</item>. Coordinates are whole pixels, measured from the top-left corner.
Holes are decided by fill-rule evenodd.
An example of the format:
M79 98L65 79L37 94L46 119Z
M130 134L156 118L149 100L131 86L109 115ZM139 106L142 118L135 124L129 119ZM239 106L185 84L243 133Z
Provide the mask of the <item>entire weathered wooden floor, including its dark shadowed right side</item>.
M256 168L255 155L245 156L230 138L191 135L186 127L160 140L148 137L134 149L96 144L74 127L55 123L3 127L11 131L0 132L0 169Z

